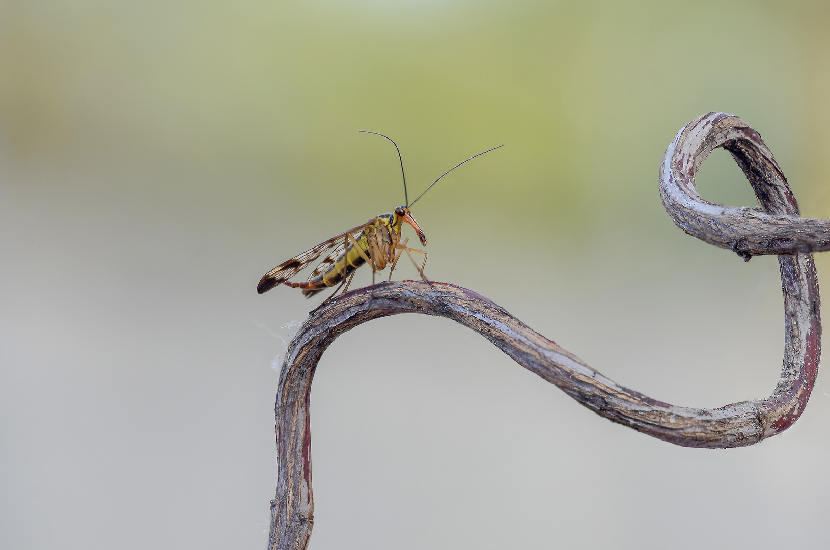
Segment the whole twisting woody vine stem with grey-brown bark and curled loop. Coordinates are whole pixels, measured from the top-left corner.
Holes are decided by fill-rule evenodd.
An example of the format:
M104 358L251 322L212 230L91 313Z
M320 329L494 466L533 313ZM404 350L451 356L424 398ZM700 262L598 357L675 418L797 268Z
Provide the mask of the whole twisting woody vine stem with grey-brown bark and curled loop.
M704 201L695 173L716 147L732 153L759 200L758 209ZM445 283L388 282L322 304L291 340L276 400L278 481L271 501L271 550L308 544L313 522L309 397L320 357L339 334L393 314L440 315L475 330L523 367L583 406L676 445L752 445L798 420L818 374L821 321L818 280L810 251L830 249L830 222L798 217L784 173L760 135L741 119L710 113L687 124L666 150L660 171L666 212L692 236L749 258L779 255L784 293L784 365L772 395L715 409L659 402L603 377L505 309Z

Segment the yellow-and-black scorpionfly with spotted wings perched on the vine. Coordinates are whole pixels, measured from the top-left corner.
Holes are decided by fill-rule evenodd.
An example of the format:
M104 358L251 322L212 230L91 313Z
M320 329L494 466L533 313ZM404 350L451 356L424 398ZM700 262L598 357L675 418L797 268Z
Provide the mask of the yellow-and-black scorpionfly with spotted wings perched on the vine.
M392 279L395 265L398 265L398 259L403 252L406 252L409 259L413 261L421 278L427 280L427 277L423 275L423 267L427 263L427 252L407 246L408 238L405 238L403 242L401 241L403 223L408 223L415 230L422 246L427 246L427 237L424 236L421 227L417 225L417 221L415 221L412 212L409 212L409 208L418 202L427 191L432 189L432 186L438 183L441 178L461 166L461 164L467 163L484 153L490 153L492 150L504 145L501 144L487 149L482 153L467 158L463 163L456 164L447 170L447 172L442 173L441 177L432 182L426 191L422 192L413 202L409 202L407 178L406 174L403 173L403 158L401 157L401 150L398 148L398 144L395 144L392 138L383 134L367 132L365 130L360 131L364 134L379 135L391 141L395 146L395 149L398 151L398 160L401 163L403 197L406 201L406 206L396 207L391 213L381 214L378 217L367 220L359 226L352 227L349 231L344 231L339 235L331 237L327 241L321 242L314 248L310 248L302 254L294 256L291 260L286 260L280 265L277 265L274 269L263 275L259 285L256 285L256 292L259 294L271 290L276 285L287 285L291 288L302 289L303 295L306 298L338 284L345 287L343 290L345 292L349 289L349 284L352 278L354 278L355 271L364 264L369 264L372 268L372 283L374 285L374 274L378 271L383 271L387 265L391 265L389 280ZM307 265L310 265L311 262L330 249L334 250L320 262L320 265L315 268L308 280L302 283L295 283L290 280L300 270L303 270ZM413 258L411 254L413 252L423 255L420 266L417 265L417 262ZM334 294L336 293L337 291L335 290Z

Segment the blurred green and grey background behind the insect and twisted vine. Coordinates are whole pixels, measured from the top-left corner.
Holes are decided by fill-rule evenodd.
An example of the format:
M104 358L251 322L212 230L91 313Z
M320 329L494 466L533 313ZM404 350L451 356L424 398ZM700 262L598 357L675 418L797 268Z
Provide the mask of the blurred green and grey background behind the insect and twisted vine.
M738 114L830 217L828 24L826 2L0 3L0 546L265 547L272 364L325 296L256 282L403 203L360 129L398 141L410 197L506 144L413 209L431 278L663 401L769 395L777 262L683 234L657 168L696 115ZM698 181L755 204L722 150ZM447 319L374 321L315 377L310 548L827 548L828 393L782 436L690 450Z

